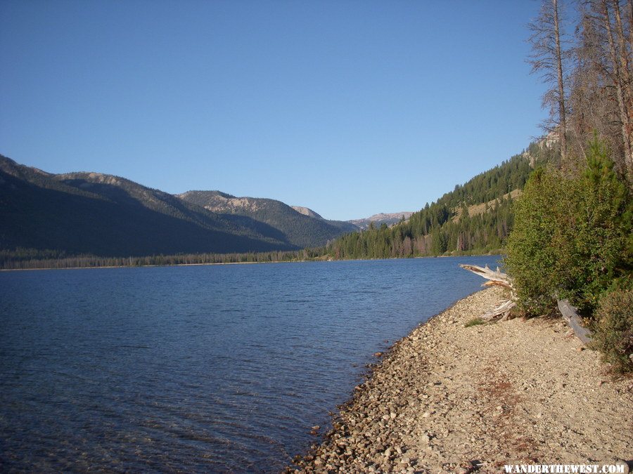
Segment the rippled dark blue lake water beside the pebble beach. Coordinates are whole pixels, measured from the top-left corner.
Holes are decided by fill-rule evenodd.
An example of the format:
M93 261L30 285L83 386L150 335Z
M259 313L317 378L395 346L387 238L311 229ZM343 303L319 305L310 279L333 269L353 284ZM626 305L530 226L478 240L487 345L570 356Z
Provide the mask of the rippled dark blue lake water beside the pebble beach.
M281 470L496 261L2 272L0 470Z

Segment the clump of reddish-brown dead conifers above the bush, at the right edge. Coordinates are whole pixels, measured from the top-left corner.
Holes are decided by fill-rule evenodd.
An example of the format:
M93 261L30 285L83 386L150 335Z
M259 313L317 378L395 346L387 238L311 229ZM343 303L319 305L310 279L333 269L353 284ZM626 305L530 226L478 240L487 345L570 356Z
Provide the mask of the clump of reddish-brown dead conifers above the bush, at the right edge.
M594 133L633 186L633 0L580 0L568 75L568 152L582 157ZM582 169L584 160L578 160Z

